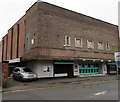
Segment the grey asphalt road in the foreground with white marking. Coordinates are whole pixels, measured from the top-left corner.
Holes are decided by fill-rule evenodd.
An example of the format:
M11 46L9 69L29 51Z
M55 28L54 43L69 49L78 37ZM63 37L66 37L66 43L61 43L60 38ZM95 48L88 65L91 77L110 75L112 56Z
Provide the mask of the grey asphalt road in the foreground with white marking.
M118 81L72 84L3 93L3 100L118 100Z

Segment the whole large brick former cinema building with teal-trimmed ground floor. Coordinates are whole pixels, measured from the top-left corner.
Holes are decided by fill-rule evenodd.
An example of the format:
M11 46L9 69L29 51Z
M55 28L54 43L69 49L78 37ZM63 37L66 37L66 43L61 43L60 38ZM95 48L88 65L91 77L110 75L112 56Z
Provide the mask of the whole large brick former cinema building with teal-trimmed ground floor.
M38 76L107 74L115 68L118 26L36 2L2 40L2 60Z

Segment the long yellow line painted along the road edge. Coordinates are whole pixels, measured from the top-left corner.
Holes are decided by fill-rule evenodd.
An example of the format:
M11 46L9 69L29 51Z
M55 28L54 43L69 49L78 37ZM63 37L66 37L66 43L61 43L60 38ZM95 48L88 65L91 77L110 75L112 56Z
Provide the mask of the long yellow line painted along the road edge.
M23 91L31 91L31 90L43 90L43 89L49 89L49 88L58 88L63 86L76 86L76 85L87 85L87 84L97 84L97 83L105 83L105 82L113 82L117 80L108 80L108 81L96 81L96 82L89 82L89 83L81 83L81 84L69 84L69 85L57 85L57 86L49 86L44 88L32 88L32 89L21 89L21 90L13 90L13 91L6 91L6 92L0 92L0 93L12 93L12 92L23 92Z

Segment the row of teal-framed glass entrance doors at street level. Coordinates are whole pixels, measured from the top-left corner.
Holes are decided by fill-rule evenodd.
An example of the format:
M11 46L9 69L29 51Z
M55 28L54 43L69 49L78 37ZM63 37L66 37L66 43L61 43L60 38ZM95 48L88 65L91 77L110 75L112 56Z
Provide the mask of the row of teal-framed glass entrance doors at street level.
M80 64L79 72L80 75L99 74L98 64Z

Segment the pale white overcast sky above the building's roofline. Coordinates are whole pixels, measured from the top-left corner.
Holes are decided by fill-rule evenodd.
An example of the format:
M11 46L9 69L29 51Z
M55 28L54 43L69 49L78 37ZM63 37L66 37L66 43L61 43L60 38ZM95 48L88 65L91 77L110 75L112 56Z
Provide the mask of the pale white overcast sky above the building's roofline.
M0 0L0 40L37 0ZM118 25L120 0L42 0Z

